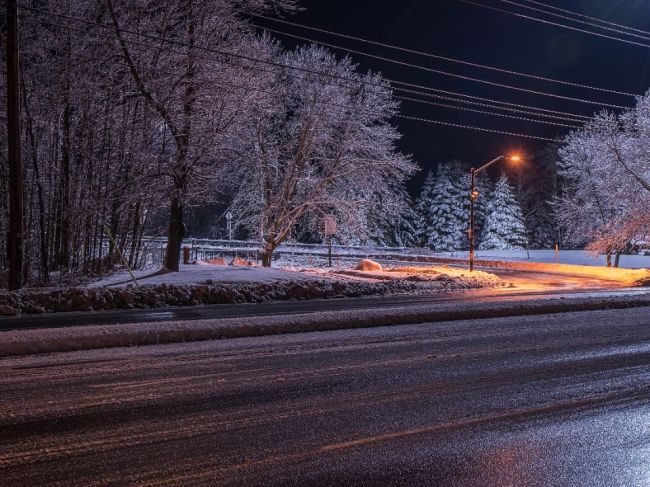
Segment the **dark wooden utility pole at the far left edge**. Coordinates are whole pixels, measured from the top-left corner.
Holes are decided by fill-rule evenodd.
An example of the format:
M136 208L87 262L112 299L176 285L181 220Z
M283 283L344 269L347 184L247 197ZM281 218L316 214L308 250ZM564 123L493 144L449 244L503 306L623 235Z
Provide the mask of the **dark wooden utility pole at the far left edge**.
M9 161L9 289L23 287L23 163L20 155L20 64L16 0L7 4L7 152Z

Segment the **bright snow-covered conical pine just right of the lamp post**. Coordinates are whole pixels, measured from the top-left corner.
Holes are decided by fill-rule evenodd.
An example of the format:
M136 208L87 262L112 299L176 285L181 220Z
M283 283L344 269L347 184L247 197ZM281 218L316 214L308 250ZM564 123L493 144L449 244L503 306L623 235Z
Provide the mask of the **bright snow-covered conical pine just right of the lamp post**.
M528 244L521 206L504 175L499 178L490 200L479 249L523 249Z

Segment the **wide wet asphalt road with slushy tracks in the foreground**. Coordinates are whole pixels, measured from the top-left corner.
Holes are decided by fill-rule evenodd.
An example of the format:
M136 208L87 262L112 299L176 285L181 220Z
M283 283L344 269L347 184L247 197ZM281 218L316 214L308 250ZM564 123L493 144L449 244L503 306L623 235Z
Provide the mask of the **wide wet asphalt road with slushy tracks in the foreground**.
M650 485L650 308L0 360L0 484Z

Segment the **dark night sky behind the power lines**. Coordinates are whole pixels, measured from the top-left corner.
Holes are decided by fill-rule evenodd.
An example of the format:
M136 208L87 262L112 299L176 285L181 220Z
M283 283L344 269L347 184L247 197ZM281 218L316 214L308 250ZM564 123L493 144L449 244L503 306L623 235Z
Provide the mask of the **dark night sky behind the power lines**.
M517 10L516 7L499 0L477 1L510 11ZM550 0L546 3L610 22L650 30L648 0ZM289 20L405 48L565 81L638 94L650 88L650 48L572 32L468 5L458 0L301 0L300 4L305 11L291 16ZM518 11L525 12L521 9ZM530 14L541 16L534 12ZM550 17L545 18L553 20ZM556 20L571 24L561 19ZM264 24L262 21L259 23ZM271 23L268 25L316 40L490 81L616 105L633 104L633 99L630 97L501 75L294 27L277 26ZM571 25L589 28L575 23ZM612 33L612 35L618 34ZM650 41L628 38L650 44ZM282 40L287 46L295 44L295 41L289 39ZM519 93L425 73L361 56L352 57L362 70L378 70L387 77L400 81L585 115L591 115L599 110L594 105ZM442 121L550 138L565 133L566 130L561 127L410 102L404 102L402 112ZM402 150L414 156L424 169L423 173L435 167L437 163L449 159L461 159L480 165L512 149L521 149L528 154L535 154L543 145L541 142L516 137L483 134L415 121L396 120L396 123L404 134L401 142ZM411 184L412 192L417 189L421 177L416 178Z

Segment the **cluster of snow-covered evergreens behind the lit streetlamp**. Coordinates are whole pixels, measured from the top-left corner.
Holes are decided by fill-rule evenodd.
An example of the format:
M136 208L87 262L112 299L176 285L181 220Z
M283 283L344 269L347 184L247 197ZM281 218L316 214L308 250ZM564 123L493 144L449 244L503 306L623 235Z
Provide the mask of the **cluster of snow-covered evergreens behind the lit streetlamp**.
M475 228L479 249L552 248L560 238L552 211L554 192L552 148L525 166L510 168L493 182L486 173L476 181ZM435 251L469 246L469 167L459 161L439 164L429 172L416 201L419 245Z

